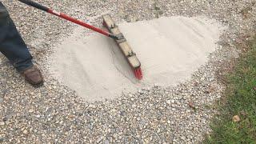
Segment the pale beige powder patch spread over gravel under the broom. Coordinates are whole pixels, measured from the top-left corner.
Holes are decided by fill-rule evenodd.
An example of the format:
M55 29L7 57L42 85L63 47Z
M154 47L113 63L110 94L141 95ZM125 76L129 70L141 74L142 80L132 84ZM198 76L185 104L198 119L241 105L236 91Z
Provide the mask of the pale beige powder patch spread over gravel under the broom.
M158 18L118 25L142 63L138 82L116 43L74 30L57 48L51 66L60 82L89 102L116 98L143 87L174 86L207 62L222 26L203 17Z

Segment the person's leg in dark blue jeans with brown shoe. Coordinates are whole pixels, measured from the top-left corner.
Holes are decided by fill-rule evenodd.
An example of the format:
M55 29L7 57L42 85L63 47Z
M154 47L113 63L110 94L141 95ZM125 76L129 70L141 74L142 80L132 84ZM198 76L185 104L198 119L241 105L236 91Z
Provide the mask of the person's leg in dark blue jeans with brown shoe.
M0 52L22 73L27 82L33 86L42 86L42 74L31 62L32 56L2 2L0 2Z

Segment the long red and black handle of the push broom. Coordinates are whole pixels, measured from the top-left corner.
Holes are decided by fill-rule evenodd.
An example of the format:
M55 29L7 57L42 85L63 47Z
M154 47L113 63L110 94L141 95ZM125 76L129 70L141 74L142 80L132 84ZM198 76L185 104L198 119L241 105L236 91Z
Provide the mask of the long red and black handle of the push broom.
M43 10L43 11L46 11L47 13L50 13L50 14L54 14L56 16L58 16L59 18L64 18L70 22L74 22L80 26L84 26L90 30L94 30L100 34L104 34L110 38L117 38L114 34L111 34L105 30L102 30L102 29L99 29L98 27L95 27L95 26L91 26L89 24L87 24L86 22L82 22L78 19L75 19L75 18L72 18L66 14L63 14L63 13L59 13L55 10L51 10L50 8L46 7L46 6L42 6L41 4L37 3L37 2L33 2L31 0L18 0L19 2L22 2L22 3L25 3L26 5L29 5L29 6L33 6L34 8L37 8L39 10Z

